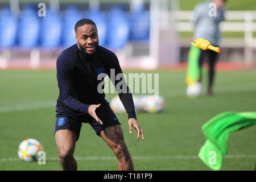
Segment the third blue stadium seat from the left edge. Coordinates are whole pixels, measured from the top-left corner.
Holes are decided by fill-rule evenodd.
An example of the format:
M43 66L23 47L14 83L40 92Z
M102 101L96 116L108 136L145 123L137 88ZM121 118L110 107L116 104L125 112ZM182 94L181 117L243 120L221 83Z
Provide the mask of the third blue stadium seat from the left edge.
M40 27L40 46L43 48L53 48L60 46L61 19L59 12L51 9L46 10L46 16L42 19Z

